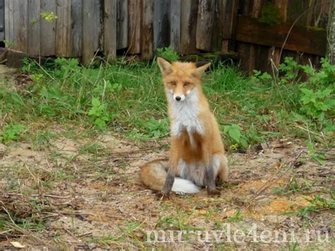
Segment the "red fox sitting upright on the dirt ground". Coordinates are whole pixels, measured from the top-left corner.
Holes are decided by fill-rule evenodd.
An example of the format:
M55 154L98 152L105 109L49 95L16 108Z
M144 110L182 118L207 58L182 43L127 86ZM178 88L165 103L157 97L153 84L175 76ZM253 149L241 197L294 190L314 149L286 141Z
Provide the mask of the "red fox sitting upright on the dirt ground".
M169 107L170 160L143 165L141 181L163 196L171 191L196 193L204 186L209 195L218 195L216 178L228 180L228 160L218 122L201 87L201 76L210 63L170 63L158 57L158 66Z

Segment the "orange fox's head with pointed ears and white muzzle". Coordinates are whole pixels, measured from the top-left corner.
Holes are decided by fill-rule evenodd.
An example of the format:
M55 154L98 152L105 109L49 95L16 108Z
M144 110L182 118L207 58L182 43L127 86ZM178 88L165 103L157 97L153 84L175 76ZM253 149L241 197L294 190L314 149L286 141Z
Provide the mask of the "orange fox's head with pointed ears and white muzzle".
M162 72L163 82L167 95L172 95L173 99L182 102L187 100L196 90L201 88L201 76L211 63L184 63L167 62L158 57L158 66Z

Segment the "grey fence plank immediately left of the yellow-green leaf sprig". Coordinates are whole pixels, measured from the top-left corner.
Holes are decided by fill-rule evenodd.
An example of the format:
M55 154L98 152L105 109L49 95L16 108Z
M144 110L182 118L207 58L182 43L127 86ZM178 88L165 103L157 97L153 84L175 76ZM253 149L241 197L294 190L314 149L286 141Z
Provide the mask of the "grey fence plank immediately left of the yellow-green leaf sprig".
M28 54L40 55L40 0L28 0Z

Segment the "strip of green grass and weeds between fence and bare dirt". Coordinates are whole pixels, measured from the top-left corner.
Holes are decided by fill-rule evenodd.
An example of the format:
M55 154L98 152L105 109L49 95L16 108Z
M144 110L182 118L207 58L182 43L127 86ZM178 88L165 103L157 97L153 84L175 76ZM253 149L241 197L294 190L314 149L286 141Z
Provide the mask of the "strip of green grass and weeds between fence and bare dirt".
M34 128L31 122L109 130L140 141L168 135L167 104L155 62L126 64L120 60L83 68L76 59L57 59L45 66L25 60L23 70L33 83L15 90L0 85L0 117L4 125L25 125L24 133L35 135L35 146L47 146L53 135L47 128ZM291 79L287 77L280 84L268 75L257 72L247 78L235 66L218 64L204 77L204 92L228 148L246 149L281 137L331 146L333 114L326 110L322 121L308 116L301 110L300 83L286 83ZM314 110L308 112L323 109L310 108ZM9 133L13 130L7 127L7 134L8 129ZM13 140L19 139L20 131L16 131ZM83 151L95 151L88 148Z

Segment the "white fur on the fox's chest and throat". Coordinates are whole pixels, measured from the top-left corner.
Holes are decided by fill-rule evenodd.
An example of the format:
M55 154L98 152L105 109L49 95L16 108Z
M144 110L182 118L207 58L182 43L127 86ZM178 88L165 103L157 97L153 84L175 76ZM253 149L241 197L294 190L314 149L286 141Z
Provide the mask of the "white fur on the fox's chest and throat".
M170 116L172 117L171 135L180 136L186 129L193 145L194 132L204 135L204 124L198 118L200 107L197 92L193 90L185 100L179 102L173 98L172 93L167 92L167 99L170 103Z

